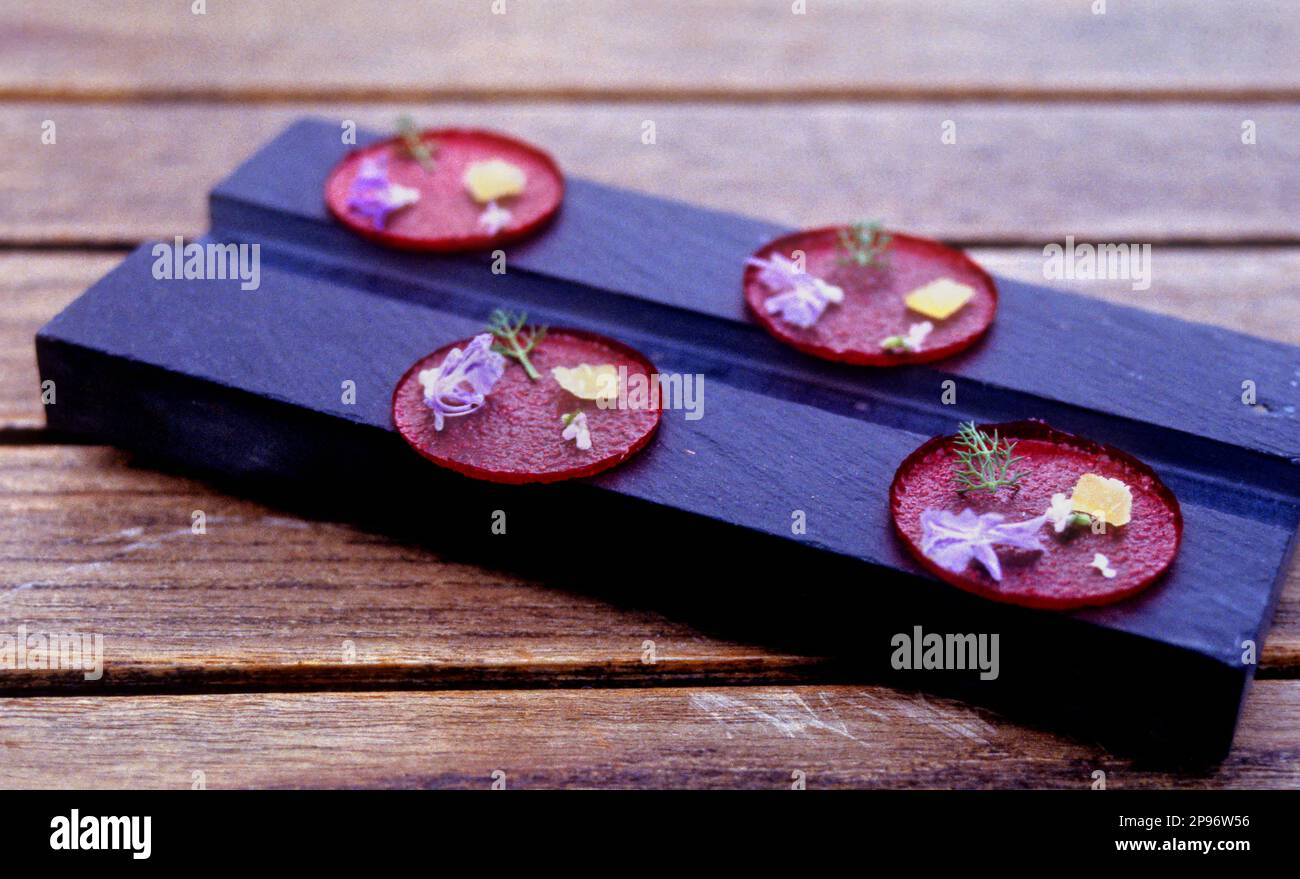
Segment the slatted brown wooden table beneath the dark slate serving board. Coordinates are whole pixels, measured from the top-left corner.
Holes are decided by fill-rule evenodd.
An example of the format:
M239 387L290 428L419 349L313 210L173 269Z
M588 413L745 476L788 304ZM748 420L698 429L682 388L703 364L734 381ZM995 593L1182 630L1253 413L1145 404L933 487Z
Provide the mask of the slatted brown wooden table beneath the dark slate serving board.
M23 5L0 12L0 632L101 633L130 685L0 672L0 784L1300 784L1300 567L1232 754L1150 770L832 677L742 607L523 581L69 445L32 361L38 326L126 248L202 231L212 183L304 113L490 125L577 174L885 217L1026 278L1066 235L1152 243L1150 290L1062 283L1300 343L1296 3Z

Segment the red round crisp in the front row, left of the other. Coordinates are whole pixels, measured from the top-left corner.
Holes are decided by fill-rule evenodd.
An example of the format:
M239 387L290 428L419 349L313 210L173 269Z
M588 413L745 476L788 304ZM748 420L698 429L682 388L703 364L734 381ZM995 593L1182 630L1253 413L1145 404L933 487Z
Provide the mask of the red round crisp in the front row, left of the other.
M445 345L402 376L393 393L393 423L402 438L436 464L490 482L558 482L592 476L615 467L640 451L659 426L658 397L646 398L654 365L625 345L582 330L551 329L529 355L541 378L533 381L524 367L507 358L506 372L484 406L469 415L448 417L434 429L433 411L424 402L420 371L437 367L454 347ZM560 387L552 367L612 364L627 368L625 408L601 408ZM645 376L638 380L636 376ZM653 403L653 406L650 404ZM586 413L592 449L566 441L563 416Z

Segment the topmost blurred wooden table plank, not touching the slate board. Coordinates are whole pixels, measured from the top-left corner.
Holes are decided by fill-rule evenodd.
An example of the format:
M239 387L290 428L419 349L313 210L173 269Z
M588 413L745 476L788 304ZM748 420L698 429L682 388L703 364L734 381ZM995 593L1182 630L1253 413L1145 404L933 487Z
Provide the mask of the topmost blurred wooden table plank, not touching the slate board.
M806 14L794 14L803 5ZM494 7L504 14L493 14ZM1295 9L1197 0L14 4L5 95L1292 95Z

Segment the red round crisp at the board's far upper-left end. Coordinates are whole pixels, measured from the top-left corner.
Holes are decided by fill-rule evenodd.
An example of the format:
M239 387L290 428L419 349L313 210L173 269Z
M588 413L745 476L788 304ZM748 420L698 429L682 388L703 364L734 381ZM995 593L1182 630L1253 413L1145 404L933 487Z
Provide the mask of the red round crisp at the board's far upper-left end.
M477 129L422 131L421 140L433 152L433 170L426 172L393 138L354 150L334 166L325 181L325 204L348 229L370 241L420 251L465 251L507 244L526 238L545 225L564 198L564 176L547 153L523 140ZM389 181L420 192L415 204L387 215L384 228L348 207L348 191L367 157L387 159ZM502 159L526 176L524 191L500 199L511 220L489 235L478 225L484 207L464 185L465 169L478 161Z

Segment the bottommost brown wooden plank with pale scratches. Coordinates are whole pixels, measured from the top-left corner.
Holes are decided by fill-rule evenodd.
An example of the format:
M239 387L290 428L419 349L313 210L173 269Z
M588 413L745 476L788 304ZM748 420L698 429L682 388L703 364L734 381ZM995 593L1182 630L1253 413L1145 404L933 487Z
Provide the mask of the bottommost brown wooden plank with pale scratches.
M1136 765L868 687L16 698L16 788L1295 788L1300 681L1260 681L1214 768ZM502 776L498 775L498 779Z

